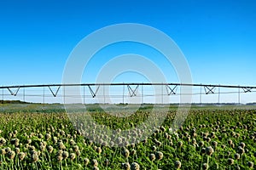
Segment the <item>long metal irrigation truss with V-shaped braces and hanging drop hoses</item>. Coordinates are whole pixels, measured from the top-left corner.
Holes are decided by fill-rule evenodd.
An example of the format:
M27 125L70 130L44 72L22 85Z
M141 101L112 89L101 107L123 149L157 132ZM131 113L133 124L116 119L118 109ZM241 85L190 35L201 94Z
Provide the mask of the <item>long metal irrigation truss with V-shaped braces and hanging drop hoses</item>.
M215 94L215 89L218 88L218 101L219 101L219 94L220 90L219 88L236 88L238 89L238 103L240 103L240 94L241 93L252 93L255 92L253 90L256 89L254 86L231 86L231 85L212 85L212 84L189 84L189 83L149 83L149 82L140 82L140 83L80 83L80 84L41 84L41 85L18 85L18 86L2 86L0 89L2 91L4 89L7 89L9 91L10 95L16 96L20 88L23 88L23 99L25 100L25 88L49 88L50 93L53 95L53 97L57 97L59 91L61 88L64 87L88 87L90 90L90 94L92 98L96 97L97 92L99 91L100 87L104 86L123 86L123 98L125 93L125 86L128 89L129 96L135 97L138 96L137 92L139 90L139 87L141 87L142 93L140 97L143 97L143 87L144 86L161 86L162 92L161 95L175 95L177 94L177 88L182 86L190 86L190 87L200 87L204 88L205 94ZM166 93L163 92L163 88L166 86ZM95 88L92 88L95 87ZM135 87L135 88L134 88ZM54 90L56 88L56 90ZM242 90L242 91L241 91ZM65 88L64 88L65 91ZM202 94L200 92L200 94ZM3 95L3 94L2 94ZM64 93L65 95L65 93ZM105 95L105 94L104 94ZM4 96L4 95L3 95ZM2 97L3 98L3 97ZM124 99L123 99L124 101Z

